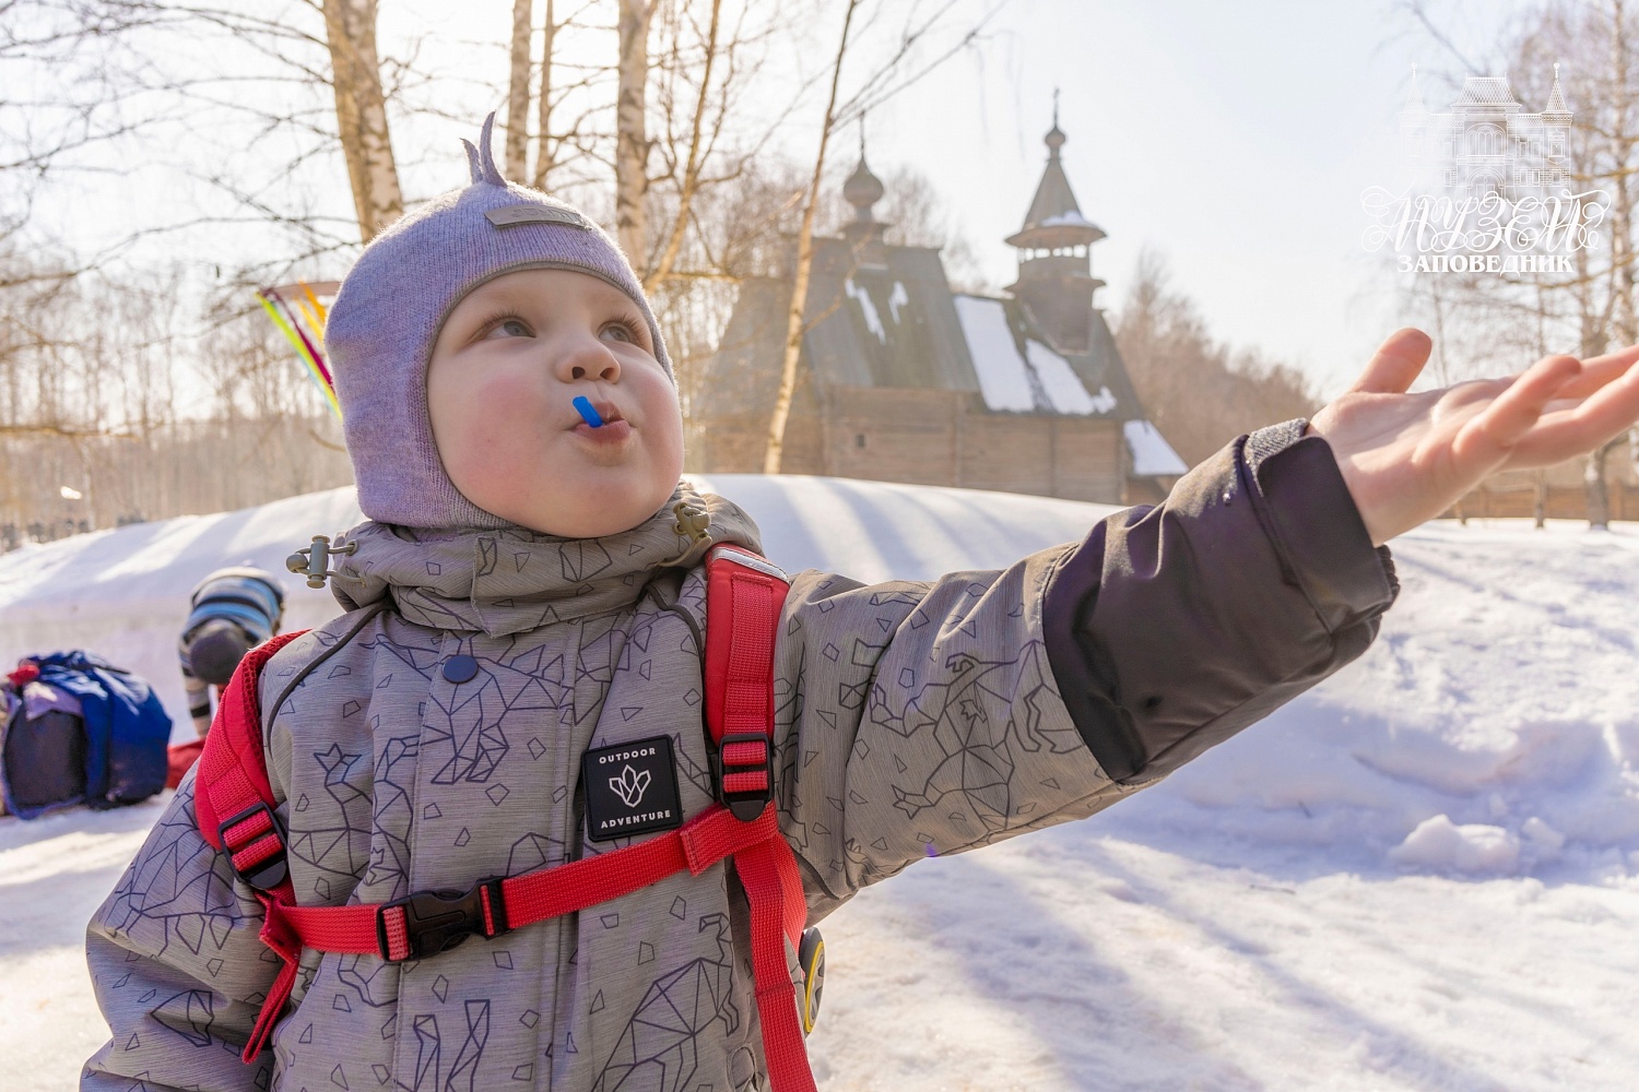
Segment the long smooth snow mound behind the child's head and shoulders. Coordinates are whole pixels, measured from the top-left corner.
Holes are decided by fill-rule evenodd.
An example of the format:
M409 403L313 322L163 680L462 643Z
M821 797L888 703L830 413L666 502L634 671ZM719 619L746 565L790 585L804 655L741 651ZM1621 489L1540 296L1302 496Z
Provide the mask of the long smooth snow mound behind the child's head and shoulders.
M1034 550L1087 535L1110 508L849 478L695 475L710 493L746 508L764 550L790 571L828 568L859 580L926 580L962 568L1000 568ZM188 594L213 568L259 565L285 589L285 629L339 612L329 589L285 571L285 558L361 519L351 488L218 516L185 516L75 535L0 553L0 666L56 648L92 648L148 678L192 738L177 632Z

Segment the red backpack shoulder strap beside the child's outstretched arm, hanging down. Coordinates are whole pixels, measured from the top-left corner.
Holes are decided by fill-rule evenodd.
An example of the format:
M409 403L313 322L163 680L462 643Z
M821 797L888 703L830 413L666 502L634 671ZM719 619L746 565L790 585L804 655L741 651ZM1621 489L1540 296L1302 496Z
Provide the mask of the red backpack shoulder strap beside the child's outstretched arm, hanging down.
M718 797L770 837L738 850L734 871L751 902L751 964L769 1077L779 1092L815 1092L785 941L798 946L808 907L797 856L779 833L774 801L774 645L790 581L751 550L706 555L706 727L716 745Z

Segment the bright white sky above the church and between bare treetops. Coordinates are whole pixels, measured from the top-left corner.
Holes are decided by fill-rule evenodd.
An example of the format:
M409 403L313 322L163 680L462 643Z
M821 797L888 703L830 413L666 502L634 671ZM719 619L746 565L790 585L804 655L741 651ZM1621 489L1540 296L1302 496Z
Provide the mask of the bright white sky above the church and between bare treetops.
M972 11L992 2L959 0ZM1477 57L1528 7L1434 0L1446 28ZM823 65L839 28L838 0L798 8L818 10L803 34L813 41L782 57L782 72ZM472 134L474 124L456 118L470 113L477 123L490 106L465 77L479 57L485 67L488 57L500 64L510 10L508 0L459 11L433 0L382 5L387 47L406 33L428 34L423 59L443 57L449 74L421 98L454 116L393 133L411 198L464 178L454 136ZM613 52L613 36L605 38ZM860 61L888 44L862 43ZM1015 254L1001 241L1019 228L1041 177L1041 136L1052 92L1062 88L1065 169L1082 211L1108 234L1093 249L1093 272L1110 282L1098 301L1119 308L1141 250L1154 247L1214 336L1303 367L1331 395L1398 324L1382 259L1359 242L1367 226L1359 196L1395 182L1395 115L1413 62L1426 74L1431 108L1442 108L1437 74L1454 72L1455 62L1393 0L1011 0L982 51L956 57L870 115L869 156L882 175L913 167L931 178L988 278L1010 283ZM810 95L783 126L793 159L811 157L818 113ZM833 144L838 177L852 167L856 141L851 128ZM333 185L320 177L318 200L344 218L339 157L331 170ZM64 196L74 201L66 219L90 229L125 221L133 205L185 203L184 190L156 193L174 185L128 174L95 201ZM190 257L207 259L205 250Z

